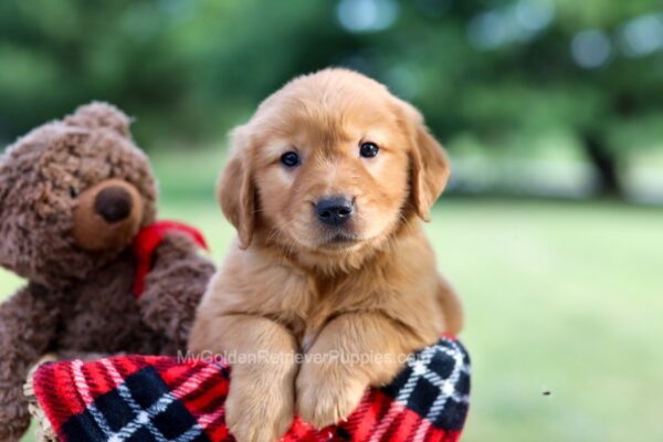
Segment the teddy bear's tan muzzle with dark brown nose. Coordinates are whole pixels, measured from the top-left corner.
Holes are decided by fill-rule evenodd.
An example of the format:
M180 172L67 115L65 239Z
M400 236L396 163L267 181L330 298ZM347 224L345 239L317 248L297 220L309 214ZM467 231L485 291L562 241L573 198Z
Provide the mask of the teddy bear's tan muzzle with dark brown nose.
M74 239L85 250L122 250L143 221L143 200L127 181L102 181L81 193L74 209Z

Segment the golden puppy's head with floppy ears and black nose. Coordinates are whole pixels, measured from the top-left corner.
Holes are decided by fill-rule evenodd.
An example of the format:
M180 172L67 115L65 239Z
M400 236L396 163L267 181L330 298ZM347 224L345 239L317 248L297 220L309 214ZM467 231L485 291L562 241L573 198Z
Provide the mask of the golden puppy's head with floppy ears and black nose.
M301 76L235 128L219 182L240 246L254 233L334 257L375 248L428 218L449 178L421 114L355 72Z

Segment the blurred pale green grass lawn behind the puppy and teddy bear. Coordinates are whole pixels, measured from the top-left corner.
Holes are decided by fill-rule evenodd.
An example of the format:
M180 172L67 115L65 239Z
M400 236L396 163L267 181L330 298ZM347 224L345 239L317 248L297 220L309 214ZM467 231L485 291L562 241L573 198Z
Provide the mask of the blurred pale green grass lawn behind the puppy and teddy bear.
M161 215L201 228L219 261L233 231L212 191L180 197ZM618 202L442 199L427 230L466 308L464 441L663 440L662 221ZM1 293L19 284L0 272Z

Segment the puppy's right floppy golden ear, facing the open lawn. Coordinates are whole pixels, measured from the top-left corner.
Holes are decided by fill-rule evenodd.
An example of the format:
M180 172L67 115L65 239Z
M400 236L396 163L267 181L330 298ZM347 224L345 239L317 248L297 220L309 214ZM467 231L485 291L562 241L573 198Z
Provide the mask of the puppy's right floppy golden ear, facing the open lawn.
M423 123L412 105L397 99L406 130L410 134L410 198L419 218L429 221L429 211L451 175L444 148Z

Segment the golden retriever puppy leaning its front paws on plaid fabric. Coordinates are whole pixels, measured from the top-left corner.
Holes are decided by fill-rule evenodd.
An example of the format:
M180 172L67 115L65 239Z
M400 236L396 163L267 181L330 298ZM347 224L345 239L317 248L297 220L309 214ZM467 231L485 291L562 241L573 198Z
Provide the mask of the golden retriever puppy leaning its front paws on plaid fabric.
M232 144L218 192L238 240L190 348L236 359L230 431L272 441L294 414L346 418L407 355L461 328L420 223L449 161L417 109L338 69L286 84Z

